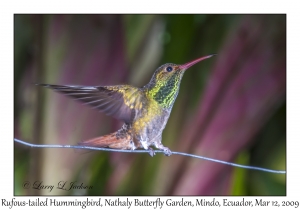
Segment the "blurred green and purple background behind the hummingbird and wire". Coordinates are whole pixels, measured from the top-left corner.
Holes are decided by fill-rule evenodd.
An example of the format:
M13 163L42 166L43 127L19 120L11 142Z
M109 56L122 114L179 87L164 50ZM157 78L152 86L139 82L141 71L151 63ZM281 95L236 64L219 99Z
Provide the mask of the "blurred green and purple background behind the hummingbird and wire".
M15 15L14 137L72 144L122 122L34 83L142 87L189 69L163 133L171 150L286 169L285 15ZM24 189L60 181L92 189ZM14 144L15 195L286 195L286 176L161 153Z

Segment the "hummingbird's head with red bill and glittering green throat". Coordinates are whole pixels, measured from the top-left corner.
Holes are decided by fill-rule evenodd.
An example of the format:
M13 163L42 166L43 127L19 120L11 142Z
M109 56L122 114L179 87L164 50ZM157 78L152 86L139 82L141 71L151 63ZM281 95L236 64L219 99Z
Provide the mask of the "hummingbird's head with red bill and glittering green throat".
M150 97L164 108L172 108L179 92L179 86L185 71L194 64L216 54L204 56L183 65L167 63L154 72L150 82L144 87Z

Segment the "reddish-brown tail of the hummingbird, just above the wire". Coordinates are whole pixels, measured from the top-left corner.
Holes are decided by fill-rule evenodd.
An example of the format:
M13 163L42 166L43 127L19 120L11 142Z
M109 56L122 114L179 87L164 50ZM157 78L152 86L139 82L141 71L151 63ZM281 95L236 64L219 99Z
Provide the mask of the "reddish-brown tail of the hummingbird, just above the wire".
M117 137L117 132L99 136L93 139L89 139L78 143L82 146L90 147L109 147L113 149L133 149L133 143L129 135L125 135L122 138Z

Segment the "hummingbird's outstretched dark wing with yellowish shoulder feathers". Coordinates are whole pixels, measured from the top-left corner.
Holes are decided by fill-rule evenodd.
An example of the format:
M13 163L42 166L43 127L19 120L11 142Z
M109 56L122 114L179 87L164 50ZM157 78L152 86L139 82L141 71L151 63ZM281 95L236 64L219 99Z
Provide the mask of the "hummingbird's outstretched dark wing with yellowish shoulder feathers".
M138 88L118 86L71 86L36 84L75 98L93 108L125 122L134 118L136 102L142 97Z

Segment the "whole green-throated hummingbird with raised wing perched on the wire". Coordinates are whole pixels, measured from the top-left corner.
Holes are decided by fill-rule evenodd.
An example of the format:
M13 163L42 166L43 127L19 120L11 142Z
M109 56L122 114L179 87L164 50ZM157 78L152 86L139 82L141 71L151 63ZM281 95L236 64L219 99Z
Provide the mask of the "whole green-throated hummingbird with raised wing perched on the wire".
M154 155L150 147L153 145L169 156L170 149L161 143L162 132L178 95L182 76L189 67L214 55L183 65L164 64L156 69L150 82L142 88L130 85L37 85L51 88L124 121L118 131L80 142L80 145L124 150L144 148L151 156Z

